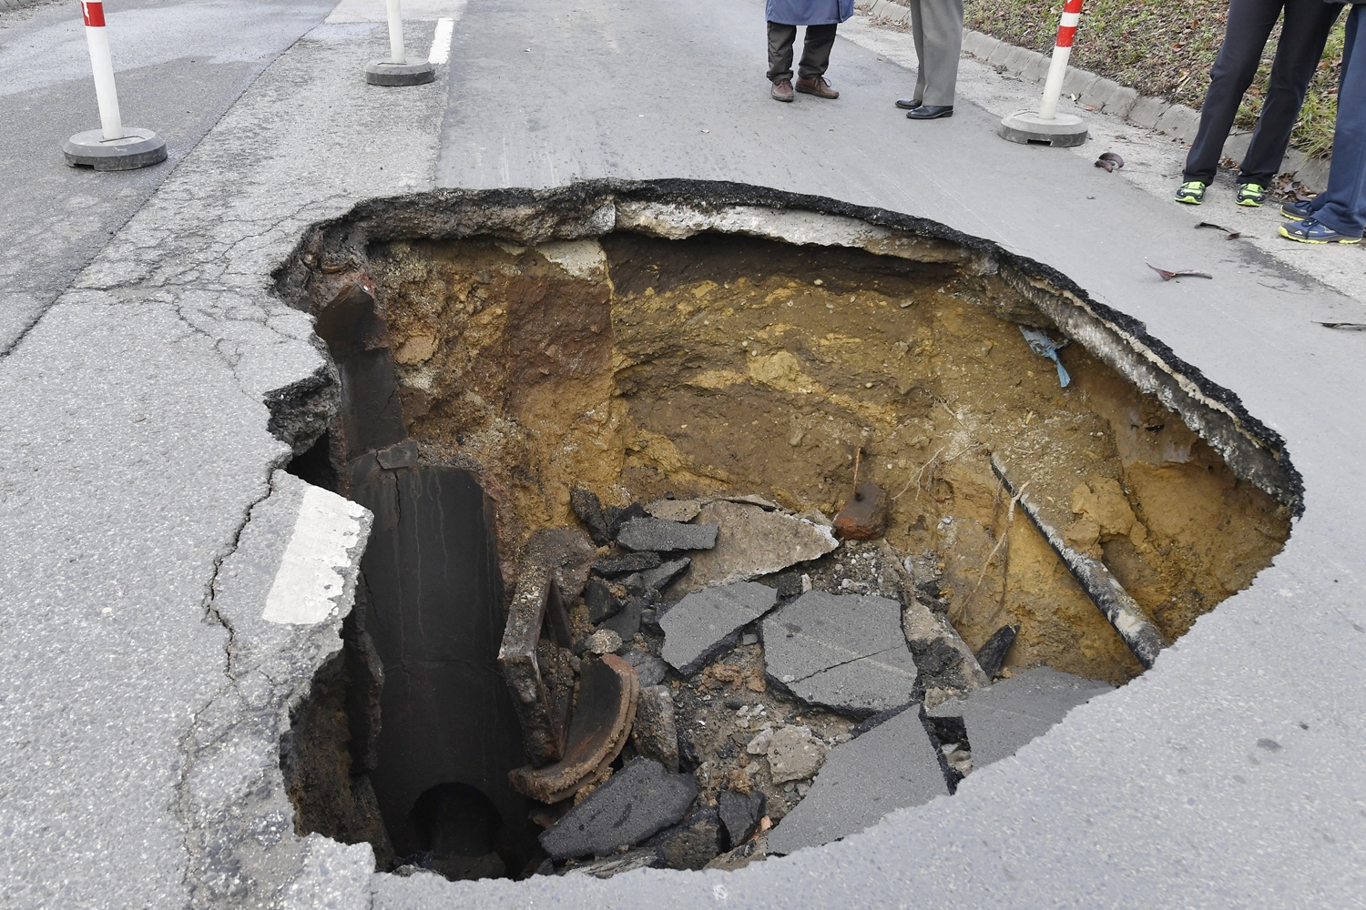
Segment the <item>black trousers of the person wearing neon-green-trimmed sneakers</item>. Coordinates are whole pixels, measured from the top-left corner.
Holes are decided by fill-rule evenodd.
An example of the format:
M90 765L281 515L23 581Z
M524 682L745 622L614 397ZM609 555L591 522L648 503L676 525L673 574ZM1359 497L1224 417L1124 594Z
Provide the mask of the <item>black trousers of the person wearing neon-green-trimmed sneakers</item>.
M1324 56L1328 31L1343 10L1340 4L1324 0L1232 0L1224 46L1218 49L1209 74L1199 131L1186 156L1186 180L1214 181L1238 105L1257 76L1266 38L1283 8L1285 25L1272 63L1266 101L1253 131L1253 143L1243 156L1238 181L1268 184L1280 172L1309 80Z

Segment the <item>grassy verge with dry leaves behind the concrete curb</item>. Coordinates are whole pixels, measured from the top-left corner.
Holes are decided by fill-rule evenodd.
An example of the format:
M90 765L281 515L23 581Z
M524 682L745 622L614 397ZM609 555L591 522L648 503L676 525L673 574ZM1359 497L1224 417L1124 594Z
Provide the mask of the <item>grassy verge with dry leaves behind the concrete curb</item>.
M1061 0L966 0L964 5L970 29L1022 48L1052 52ZM1071 63L1142 94L1198 111L1209 89L1209 68L1224 41L1227 20L1227 0L1093 0L1082 12ZM1328 154L1333 149L1346 20L1344 14L1328 38L1291 135L1291 145L1307 154ZM1251 128L1257 123L1279 40L1277 25L1266 42L1257 79L1243 97L1239 127Z

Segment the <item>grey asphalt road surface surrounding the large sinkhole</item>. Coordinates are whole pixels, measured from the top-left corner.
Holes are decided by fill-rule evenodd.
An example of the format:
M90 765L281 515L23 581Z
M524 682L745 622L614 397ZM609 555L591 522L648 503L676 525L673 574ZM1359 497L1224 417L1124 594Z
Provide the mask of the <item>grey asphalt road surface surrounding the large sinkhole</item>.
M776 105L758 0L422 0L410 45L459 16L451 64L402 91L359 76L382 11L343 7L111 0L138 23L113 38L124 119L172 147L131 175L61 164L94 115L74 4L0 8L0 905L1362 906L1366 336L1313 323L1366 322L1359 296L1193 231L1142 180L1000 142L1014 89L975 64L981 94L910 124L904 42L861 23L837 102ZM366 846L292 834L279 774L339 618L261 619L302 498L281 438L329 375L270 273L370 198L600 176L828 195L1056 267L1285 438L1305 517L1152 671L837 845L738 873L372 876ZM1366 285L1335 252L1355 259L1332 284ZM281 394L307 407L273 413Z

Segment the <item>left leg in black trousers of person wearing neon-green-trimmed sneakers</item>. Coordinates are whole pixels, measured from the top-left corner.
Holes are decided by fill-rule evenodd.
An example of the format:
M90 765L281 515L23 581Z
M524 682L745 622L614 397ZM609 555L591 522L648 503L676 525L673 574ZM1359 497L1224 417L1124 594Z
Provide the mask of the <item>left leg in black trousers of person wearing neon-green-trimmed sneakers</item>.
M1262 48L1280 16L1285 0L1232 0L1228 7L1228 27L1224 45L1218 49L1209 71L1209 90L1201 106L1199 130L1190 154L1186 156L1183 180L1209 184L1218 173L1218 160L1224 154L1224 141L1233 127L1238 105L1247 86L1253 85ZM1322 0L1313 0L1322 3Z

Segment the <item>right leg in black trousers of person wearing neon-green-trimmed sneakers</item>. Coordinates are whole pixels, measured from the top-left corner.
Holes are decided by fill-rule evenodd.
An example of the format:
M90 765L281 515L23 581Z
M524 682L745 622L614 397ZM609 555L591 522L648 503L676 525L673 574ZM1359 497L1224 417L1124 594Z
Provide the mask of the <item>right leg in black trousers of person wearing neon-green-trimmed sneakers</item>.
M1318 70L1328 33L1341 10L1341 4L1324 0L1285 0L1285 25L1272 64L1266 102L1257 117L1253 143L1243 156L1239 183L1265 187L1280 173L1290 134L1305 104L1305 91Z

